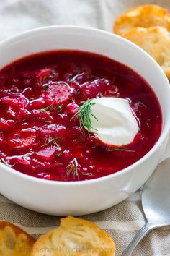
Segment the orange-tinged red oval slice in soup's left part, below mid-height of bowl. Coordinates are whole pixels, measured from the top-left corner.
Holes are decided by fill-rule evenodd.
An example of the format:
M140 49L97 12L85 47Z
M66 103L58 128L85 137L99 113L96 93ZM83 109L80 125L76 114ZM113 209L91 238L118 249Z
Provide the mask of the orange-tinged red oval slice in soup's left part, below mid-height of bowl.
M30 147L35 142L35 139L34 129L17 129L9 135L6 142L10 148L19 149Z

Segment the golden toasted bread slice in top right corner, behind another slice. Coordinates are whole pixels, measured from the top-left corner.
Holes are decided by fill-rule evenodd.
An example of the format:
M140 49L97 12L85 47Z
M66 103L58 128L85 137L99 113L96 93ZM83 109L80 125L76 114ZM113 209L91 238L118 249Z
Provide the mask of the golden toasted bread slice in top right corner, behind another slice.
M124 35L133 27L161 26L170 30L170 17L166 9L158 5L141 5L120 15L114 25L117 35Z

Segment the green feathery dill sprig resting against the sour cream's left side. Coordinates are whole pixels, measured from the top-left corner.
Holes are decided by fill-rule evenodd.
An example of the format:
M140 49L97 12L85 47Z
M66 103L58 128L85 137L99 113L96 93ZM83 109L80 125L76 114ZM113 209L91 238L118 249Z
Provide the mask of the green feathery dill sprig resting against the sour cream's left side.
M79 118L79 124L80 124L81 129L83 131L84 131L84 129L88 129L88 131L90 131L91 128L94 129L93 127L91 127L90 116L93 116L94 119L96 119L98 121L97 117L91 113L91 106L93 106L95 104L95 102L93 101L93 99L89 99L87 101L82 101L81 103L83 103L83 104L79 107L79 110L71 119Z

